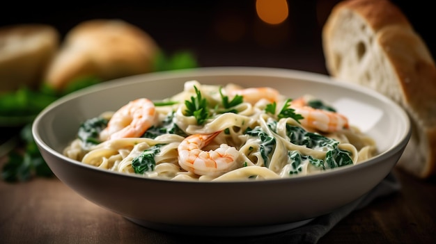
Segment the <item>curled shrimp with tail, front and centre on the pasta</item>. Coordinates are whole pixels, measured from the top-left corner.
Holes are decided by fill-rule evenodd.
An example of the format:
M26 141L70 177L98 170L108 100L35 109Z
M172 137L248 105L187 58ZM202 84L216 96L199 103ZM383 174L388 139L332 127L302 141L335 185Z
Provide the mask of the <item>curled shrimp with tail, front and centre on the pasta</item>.
M188 136L178 146L180 167L198 175L217 177L237 167L240 152L235 147L222 144L219 148L203 151L221 131L212 134L194 134Z

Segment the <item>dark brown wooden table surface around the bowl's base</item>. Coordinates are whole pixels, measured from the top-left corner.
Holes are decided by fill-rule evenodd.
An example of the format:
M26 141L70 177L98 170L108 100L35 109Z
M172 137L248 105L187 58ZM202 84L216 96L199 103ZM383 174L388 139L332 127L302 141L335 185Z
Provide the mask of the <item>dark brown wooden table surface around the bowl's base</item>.
M394 175L402 185L398 193L352 212L318 243L436 243L435 180L399 170ZM244 243L244 238L182 236L141 227L85 200L56 177L1 181L0 201L0 243ZM271 241L256 240L250 243Z

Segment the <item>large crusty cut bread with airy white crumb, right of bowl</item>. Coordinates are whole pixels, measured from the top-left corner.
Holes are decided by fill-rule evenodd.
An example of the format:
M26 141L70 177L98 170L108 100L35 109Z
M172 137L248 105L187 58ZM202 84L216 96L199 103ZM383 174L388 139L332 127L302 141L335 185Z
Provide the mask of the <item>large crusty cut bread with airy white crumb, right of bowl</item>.
M412 138L397 166L422 179L435 175L435 62L400 8L388 0L339 2L322 45L331 76L373 88L410 115Z

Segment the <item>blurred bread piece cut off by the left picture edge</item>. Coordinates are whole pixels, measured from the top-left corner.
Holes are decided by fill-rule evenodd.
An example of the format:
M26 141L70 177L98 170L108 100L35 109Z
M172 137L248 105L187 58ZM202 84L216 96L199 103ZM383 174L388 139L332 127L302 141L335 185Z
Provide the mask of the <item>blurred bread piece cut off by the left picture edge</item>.
M59 47L59 33L45 24L0 28L0 92L42 83L47 64Z

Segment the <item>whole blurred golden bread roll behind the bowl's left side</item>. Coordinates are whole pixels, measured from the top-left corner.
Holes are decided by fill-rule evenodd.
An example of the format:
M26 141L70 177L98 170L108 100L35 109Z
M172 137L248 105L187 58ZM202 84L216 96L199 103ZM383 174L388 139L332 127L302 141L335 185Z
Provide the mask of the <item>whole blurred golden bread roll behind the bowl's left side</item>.
M157 44L145 31L120 19L91 19L71 29L45 74L56 90L92 76L116 79L152 71Z

